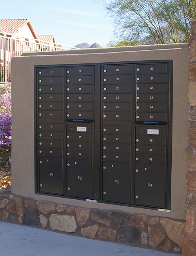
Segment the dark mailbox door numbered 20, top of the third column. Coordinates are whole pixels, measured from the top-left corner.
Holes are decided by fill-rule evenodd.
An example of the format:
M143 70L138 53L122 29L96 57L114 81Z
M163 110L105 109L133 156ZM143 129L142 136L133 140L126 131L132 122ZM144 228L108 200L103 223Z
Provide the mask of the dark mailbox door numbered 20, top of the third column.
M131 74L132 65L108 65L103 66L103 74L118 75L118 74Z

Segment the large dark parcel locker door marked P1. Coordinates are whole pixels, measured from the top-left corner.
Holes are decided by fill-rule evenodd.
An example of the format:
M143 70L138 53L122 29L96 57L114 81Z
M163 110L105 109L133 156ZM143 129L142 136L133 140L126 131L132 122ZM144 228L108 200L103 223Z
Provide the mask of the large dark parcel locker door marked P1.
M63 195L63 158L39 157L39 192Z

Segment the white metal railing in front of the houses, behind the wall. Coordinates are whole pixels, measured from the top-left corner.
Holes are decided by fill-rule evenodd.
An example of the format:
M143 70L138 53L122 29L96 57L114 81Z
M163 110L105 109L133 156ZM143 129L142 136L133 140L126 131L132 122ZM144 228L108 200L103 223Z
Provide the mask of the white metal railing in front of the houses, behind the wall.
M24 52L52 52L78 49L68 45L57 45L39 39L18 39L15 35L0 32L0 87L11 84L11 58Z

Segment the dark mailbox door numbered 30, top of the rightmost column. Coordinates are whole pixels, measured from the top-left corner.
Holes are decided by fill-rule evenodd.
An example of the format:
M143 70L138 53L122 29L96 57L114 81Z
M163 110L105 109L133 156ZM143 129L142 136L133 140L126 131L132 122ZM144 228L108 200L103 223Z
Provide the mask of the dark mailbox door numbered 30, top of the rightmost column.
M156 74L156 73L167 73L167 64L143 64L136 65L137 74Z

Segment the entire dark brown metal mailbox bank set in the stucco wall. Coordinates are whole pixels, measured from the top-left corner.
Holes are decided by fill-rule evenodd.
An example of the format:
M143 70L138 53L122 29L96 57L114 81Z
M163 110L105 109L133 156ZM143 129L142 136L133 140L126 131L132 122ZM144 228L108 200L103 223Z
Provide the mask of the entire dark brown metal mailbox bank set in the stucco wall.
M170 209L172 61L35 72L36 193Z

